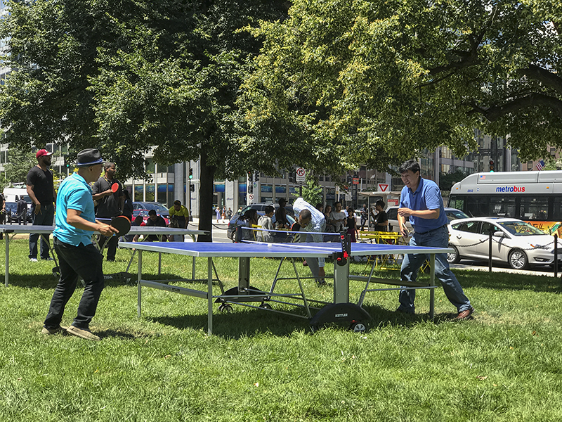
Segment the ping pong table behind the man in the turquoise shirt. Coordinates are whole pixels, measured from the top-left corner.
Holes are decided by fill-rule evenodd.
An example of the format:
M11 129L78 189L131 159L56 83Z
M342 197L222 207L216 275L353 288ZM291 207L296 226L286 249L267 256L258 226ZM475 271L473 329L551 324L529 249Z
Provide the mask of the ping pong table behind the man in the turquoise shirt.
M102 220L103 221L103 220ZM53 233L53 230L55 229L55 226L34 226L32 224L27 224L27 225L20 225L20 224L0 224L0 233L3 233L6 237L6 262L4 265L4 286L8 287L8 283L9 283L9 267L10 267L10 242L13 239L13 236L15 236L16 234L32 234L32 233L37 233L37 234L47 234L47 235L51 235ZM205 231L205 230L190 230L190 229L177 229L177 228L171 228L171 227L155 227L155 226L132 226L131 227L131 231L129 231L129 234L132 235L150 235L150 234L154 234L156 236L167 236L167 235L181 235L181 234L187 234L188 236L191 236L192 240L195 242L195 236L200 235L200 234L208 234L209 231ZM98 234L97 232L94 234ZM137 243L135 243L137 244ZM49 250L51 252L53 252L53 249L51 248L51 243L48 243L49 245ZM132 261L132 257L131 260L129 261L129 265L130 262ZM53 252L53 260L55 260L55 264L56 264L56 257L55 254ZM194 266L195 267L195 266ZM55 267L56 268L56 267ZM127 271L129 270L129 267L127 267ZM53 269L53 272L54 269Z

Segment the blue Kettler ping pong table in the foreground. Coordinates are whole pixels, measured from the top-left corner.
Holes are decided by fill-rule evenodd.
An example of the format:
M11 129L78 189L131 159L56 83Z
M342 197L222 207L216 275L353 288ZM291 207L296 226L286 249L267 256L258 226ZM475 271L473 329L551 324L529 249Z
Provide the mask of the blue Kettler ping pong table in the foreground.
M377 243L351 243L351 250L348 257L365 256L365 255L387 255L395 254L411 254L423 253L429 255L431 262L431 271L429 283L407 283L400 280L377 279L373 276L374 265L369 276L353 276L349 274L349 258L344 258L341 246L337 243L179 243L179 242L153 242L153 243L121 243L123 248L136 248L138 250L138 279L137 279L137 314L141 316L141 300L142 288L150 287L160 290L166 290L173 293L192 296L207 300L207 331L213 333L213 302L224 304L239 304L244 306L256 307L266 310L274 310L270 307L264 307L263 304L268 301L275 302L275 298L285 297L303 301L307 316L313 328L327 324L330 322L350 323L354 331L363 331L364 321L370 319L370 315L362 308L362 302L365 294L377 290L398 290L400 287L411 289L429 289L430 290L430 317L434 316L434 289L435 289L435 255L437 253L447 253L447 248L428 248L414 247L409 245L385 245ZM176 255L184 255L190 257L207 257L207 290L195 290L192 288L184 288L174 286L170 280L146 280L143 279L143 251L146 252L163 252ZM239 260L238 265L238 286L237 288L225 291L222 283L219 281L221 294L213 293L213 271L214 257L235 257ZM273 280L272 288L269 292L255 290L250 286L250 258L259 257L277 257L282 258L280 265L284 260L292 260L296 280L299 283L299 292L297 293L280 293L274 292L277 274ZM311 315L308 299L301 285L301 277L296 271L294 260L296 258L312 257L312 258L334 258L334 296L333 302L322 307L314 316ZM215 271L216 272L216 271ZM365 282L365 289L362 290L358 304L349 302L349 281L357 280ZM188 281L188 280L186 280ZM370 283L383 283L394 285L393 288L372 289ZM252 306L243 302L262 302L260 306ZM318 302L318 301L316 301ZM287 303L287 302L280 302ZM292 305L292 304L291 304ZM276 311L280 312L280 311ZM281 312L287 314L287 312ZM293 314L292 314L293 315ZM294 314L294 316L298 316Z

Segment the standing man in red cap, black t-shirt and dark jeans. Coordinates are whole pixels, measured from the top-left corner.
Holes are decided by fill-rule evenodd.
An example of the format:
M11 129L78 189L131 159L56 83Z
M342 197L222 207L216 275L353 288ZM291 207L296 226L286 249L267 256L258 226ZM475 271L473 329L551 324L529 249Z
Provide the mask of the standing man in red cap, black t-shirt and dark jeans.
M48 170L51 166L51 155L48 151L41 149L35 154L37 165L27 173L26 188L27 195L32 200L32 224L34 226L52 226L55 218L56 200L55 186L53 185L53 172ZM53 260L49 256L48 234L41 235L41 260ZM37 241L39 234L30 234L30 261L37 262Z

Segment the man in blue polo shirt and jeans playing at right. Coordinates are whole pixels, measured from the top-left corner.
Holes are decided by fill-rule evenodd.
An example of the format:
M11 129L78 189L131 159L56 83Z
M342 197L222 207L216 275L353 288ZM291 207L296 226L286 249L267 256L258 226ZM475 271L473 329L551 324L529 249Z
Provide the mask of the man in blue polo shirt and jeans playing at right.
M410 224L414 227L410 245L447 248L448 220L439 187L434 181L420 176L419 163L414 160L404 162L398 171L406 185L400 193L400 208L398 208L400 233L407 237L405 222L406 218L409 218ZM417 272L426 259L425 254L405 255L400 269L400 279L416 281ZM441 282L447 299L457 307L457 319L469 318L474 309L470 305L470 300L464 295L455 274L452 274L447 255L444 253L435 256L435 276ZM400 307L397 310L413 314L415 297L416 290L406 288L400 290Z

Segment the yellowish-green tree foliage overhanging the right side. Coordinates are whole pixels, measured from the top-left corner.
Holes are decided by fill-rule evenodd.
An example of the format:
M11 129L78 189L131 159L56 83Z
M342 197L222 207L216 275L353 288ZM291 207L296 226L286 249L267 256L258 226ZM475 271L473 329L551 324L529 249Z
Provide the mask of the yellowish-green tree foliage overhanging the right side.
M440 145L464 155L474 128L538 157L562 145L560 16L555 1L294 0L254 30L247 124L339 174Z

